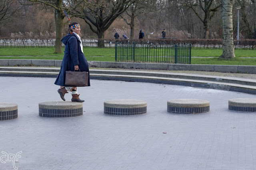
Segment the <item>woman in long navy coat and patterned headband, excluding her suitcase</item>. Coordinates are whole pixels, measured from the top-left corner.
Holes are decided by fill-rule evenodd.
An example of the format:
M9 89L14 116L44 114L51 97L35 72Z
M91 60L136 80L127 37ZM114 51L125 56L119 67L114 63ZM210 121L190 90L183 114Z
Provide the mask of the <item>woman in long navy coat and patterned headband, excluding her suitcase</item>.
M56 78L54 84L60 85L60 89L58 89L58 93L62 100L65 101L64 95L68 93L68 91L72 92L73 102L84 102L79 98L77 87L66 87L65 79L66 79L66 71L86 71L88 72L88 86L90 86L90 73L88 62L84 56L82 40L79 36L80 34L80 25L77 22L73 22L69 24L70 32L62 38L61 42L65 45L64 57L62 60L62 64L60 67L60 73Z

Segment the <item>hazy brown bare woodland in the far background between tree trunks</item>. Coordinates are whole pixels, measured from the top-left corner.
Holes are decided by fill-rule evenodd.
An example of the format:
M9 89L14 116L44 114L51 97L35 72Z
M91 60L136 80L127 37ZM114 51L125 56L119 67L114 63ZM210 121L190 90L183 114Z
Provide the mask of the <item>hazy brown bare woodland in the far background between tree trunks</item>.
M23 0L26 1L26 0ZM162 28L166 29L166 37L179 39L204 38L204 24L200 18L204 17L204 10L200 8L202 4L209 0L138 0L140 8L135 10L134 19L134 39L138 39L139 30L145 33L146 39L161 37ZM30 36L32 38L54 38L55 23L54 10L48 6L21 5L17 0L1 0L0 11L7 7L4 3L10 3L8 11L13 12L12 16L5 16L0 13L0 37L15 37L17 35ZM214 7L218 6L220 0L212 1ZM256 39L256 2L254 0L237 0L234 6L241 6L240 9L240 40ZM213 8L213 7L212 7ZM116 18L111 26L106 30L104 38L114 38L114 33L119 32L130 38L129 15L131 8L127 12ZM222 38L222 13L221 8L211 13L209 20L209 39ZM127 22L123 19L125 18ZM82 38L97 38L97 34L90 30L88 24L81 18L72 18L78 21L82 29ZM233 32L236 39L237 32L237 10L233 8ZM67 26L67 24L66 24ZM153 33L153 34L150 34ZM66 34L66 28L63 28Z

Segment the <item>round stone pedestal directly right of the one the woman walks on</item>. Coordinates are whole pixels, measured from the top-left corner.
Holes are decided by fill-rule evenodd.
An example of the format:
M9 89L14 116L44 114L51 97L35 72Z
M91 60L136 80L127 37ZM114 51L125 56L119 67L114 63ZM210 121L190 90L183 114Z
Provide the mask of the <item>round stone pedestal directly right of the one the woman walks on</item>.
M147 113L147 102L142 100L117 99L104 102L108 115L140 115Z

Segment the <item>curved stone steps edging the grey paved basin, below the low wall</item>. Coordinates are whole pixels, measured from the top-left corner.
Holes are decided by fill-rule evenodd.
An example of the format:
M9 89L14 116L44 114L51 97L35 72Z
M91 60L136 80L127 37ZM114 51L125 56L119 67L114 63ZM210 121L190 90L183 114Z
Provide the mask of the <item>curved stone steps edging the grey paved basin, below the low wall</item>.
M6 68L7 71L4 71ZM26 68L25 71L22 71L22 68L17 68L17 71L13 71L12 67L0 67L0 76L9 76L9 77L57 77L58 72L54 68L49 70L51 72L40 71L42 68L37 68L36 71L30 71L33 68ZM3 70L3 71L1 71ZM38 72L39 71L39 72ZM118 72L124 73L122 75L117 74ZM128 71L106 71L106 70L93 70L90 73L90 79L101 79L101 80L113 80L113 81L135 81L135 82L145 82L145 83L162 83L162 84L172 84L172 85L183 85L191 87L203 87L209 89L220 89L226 91L238 91L242 93L252 93L256 94L256 81L246 81L231 77L222 78L214 76L203 76L199 75L195 77L194 75L168 75L166 73L157 73L152 72L152 74L145 73L146 71L132 71L129 74ZM149 71L148 71L149 72ZM139 75L136 75L136 74ZM193 77L194 76L194 77Z

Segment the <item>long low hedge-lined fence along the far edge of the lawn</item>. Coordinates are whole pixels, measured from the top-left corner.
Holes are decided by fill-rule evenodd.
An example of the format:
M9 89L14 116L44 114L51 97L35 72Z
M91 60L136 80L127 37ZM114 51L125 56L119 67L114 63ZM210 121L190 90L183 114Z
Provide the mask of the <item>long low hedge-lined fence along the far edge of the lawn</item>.
M187 40L163 40L163 39L151 39L151 40L140 40L140 43L154 44L170 44L170 43L191 43L192 49L222 49L222 39L187 39ZM100 42L100 43L99 43ZM103 42L103 43L102 43ZM138 40L111 40L111 39L82 39L84 48L114 48L115 43L133 43L138 42ZM104 44L104 45L102 45ZM62 44L64 46L64 44ZM40 47L40 48L50 48L55 47L55 39L33 39L33 38L0 38L0 48L28 48L28 47ZM234 40L235 49L256 49L256 40Z

